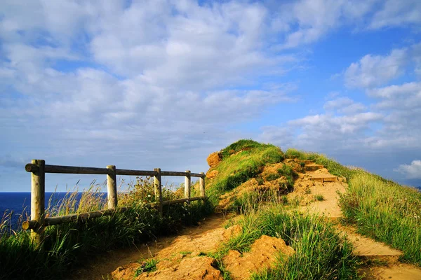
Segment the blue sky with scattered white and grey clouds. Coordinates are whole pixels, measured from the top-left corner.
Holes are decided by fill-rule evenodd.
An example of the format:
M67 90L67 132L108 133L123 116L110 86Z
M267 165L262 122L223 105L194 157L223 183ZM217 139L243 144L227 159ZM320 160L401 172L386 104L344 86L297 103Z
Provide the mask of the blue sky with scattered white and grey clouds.
M32 159L206 172L239 139L421 186L421 1L2 0L0 129L0 192Z

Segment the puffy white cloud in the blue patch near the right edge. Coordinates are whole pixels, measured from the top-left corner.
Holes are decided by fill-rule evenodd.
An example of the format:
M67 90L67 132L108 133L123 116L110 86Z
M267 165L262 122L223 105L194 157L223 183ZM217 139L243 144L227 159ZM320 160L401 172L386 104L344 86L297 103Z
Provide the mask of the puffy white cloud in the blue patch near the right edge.
M402 75L407 62L406 49L392 50L387 56L365 55L347 68L345 84L361 88L384 85Z

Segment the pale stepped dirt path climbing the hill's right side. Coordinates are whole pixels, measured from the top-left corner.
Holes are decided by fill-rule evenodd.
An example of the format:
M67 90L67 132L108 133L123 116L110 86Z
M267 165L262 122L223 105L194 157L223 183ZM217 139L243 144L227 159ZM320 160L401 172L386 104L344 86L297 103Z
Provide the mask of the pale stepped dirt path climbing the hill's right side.
M312 164L310 164L312 165ZM322 201L315 201L300 207L301 211L312 214L325 215L332 221L342 218L338 200L339 193L345 193L347 183L343 179L333 180L333 175L321 166L312 165L312 171L300 176L298 184L305 185L312 195L322 195ZM308 183L312 181L312 183ZM308 191L307 191L308 192ZM345 235L354 246L354 254L359 255L372 265L360 269L360 274L365 280L399 279L420 280L421 269L415 265L399 262L399 256L403 253L386 244L377 242L368 237L356 233L356 228L344 226L338 223L338 231ZM377 265L376 265L377 264Z

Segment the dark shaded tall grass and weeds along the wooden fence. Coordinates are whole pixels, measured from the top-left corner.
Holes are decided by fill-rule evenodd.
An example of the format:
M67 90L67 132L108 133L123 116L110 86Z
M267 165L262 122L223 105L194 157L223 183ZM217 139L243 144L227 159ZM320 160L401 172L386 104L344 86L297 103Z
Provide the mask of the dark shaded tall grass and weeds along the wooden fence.
M182 225L195 223L210 214L209 202L175 204L163 208L163 216L150 207L153 202L150 179L138 180L128 193L119 194L119 206L127 211L116 211L87 223L67 223L46 228L43 246L34 246L29 232L8 230L7 222L0 226L0 279L62 279L77 265L94 255L112 248L132 246L156 235L168 235ZM164 199L173 193L164 191ZM146 195L146 196L145 196ZM51 204L48 215L82 213L104 208L100 188L91 188L77 200L77 193L69 193L58 204Z

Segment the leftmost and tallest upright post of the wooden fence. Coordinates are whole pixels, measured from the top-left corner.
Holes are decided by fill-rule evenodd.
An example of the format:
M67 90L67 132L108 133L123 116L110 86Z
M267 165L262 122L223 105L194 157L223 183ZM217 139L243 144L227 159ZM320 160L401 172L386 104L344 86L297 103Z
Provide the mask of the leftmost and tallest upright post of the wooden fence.
M31 176L31 220L37 225L31 231L31 239L37 246L41 245L44 239L44 218L46 205L46 172L45 160L32 160L37 170Z

